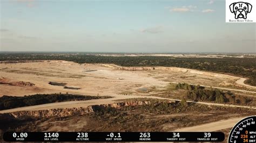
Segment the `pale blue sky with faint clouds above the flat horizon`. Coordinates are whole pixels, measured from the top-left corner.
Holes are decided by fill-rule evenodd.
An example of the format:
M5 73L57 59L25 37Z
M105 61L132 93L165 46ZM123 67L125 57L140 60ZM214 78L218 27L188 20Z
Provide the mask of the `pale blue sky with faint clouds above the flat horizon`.
M1 0L0 51L256 52L225 1Z

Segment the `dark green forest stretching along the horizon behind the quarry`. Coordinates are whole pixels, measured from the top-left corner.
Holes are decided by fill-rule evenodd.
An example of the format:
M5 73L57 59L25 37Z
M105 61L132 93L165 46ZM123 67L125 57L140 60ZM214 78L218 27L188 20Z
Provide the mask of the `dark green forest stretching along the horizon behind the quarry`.
M0 61L66 60L77 63L114 63L119 66L180 67L250 78L256 86L256 58L174 58L171 56L97 56L83 53L0 53Z

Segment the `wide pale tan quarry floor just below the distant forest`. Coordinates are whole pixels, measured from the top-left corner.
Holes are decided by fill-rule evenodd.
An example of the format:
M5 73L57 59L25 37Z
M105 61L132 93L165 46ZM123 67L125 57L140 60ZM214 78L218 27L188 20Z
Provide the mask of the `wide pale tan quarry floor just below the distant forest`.
M0 84L0 96L24 96L37 93L70 92L88 95L123 94L142 95L140 88L164 88L169 82L186 82L213 87L236 85L238 77L181 68L156 70L117 70L109 65L88 65L67 61L0 64L0 77L10 82L30 82L34 86ZM49 82L67 83L63 89ZM241 82L239 80L239 82ZM239 85L242 86L242 85ZM245 86L245 85L244 85Z

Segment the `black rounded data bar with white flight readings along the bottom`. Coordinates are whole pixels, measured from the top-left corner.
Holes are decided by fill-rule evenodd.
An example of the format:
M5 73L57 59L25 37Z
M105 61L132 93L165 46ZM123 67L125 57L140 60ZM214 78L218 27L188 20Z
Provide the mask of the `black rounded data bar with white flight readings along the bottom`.
M5 132L4 141L224 141L223 132Z

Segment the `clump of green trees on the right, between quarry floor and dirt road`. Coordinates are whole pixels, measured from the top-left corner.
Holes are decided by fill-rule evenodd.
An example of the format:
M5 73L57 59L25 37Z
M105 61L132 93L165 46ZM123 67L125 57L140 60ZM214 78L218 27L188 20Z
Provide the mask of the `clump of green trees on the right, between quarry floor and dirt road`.
M223 92L219 89L205 89L200 85L190 85L187 83L178 83L176 89L185 89L187 92L187 99L193 101L208 101L215 103L232 103L245 105L252 99L246 97L234 95L232 92Z

